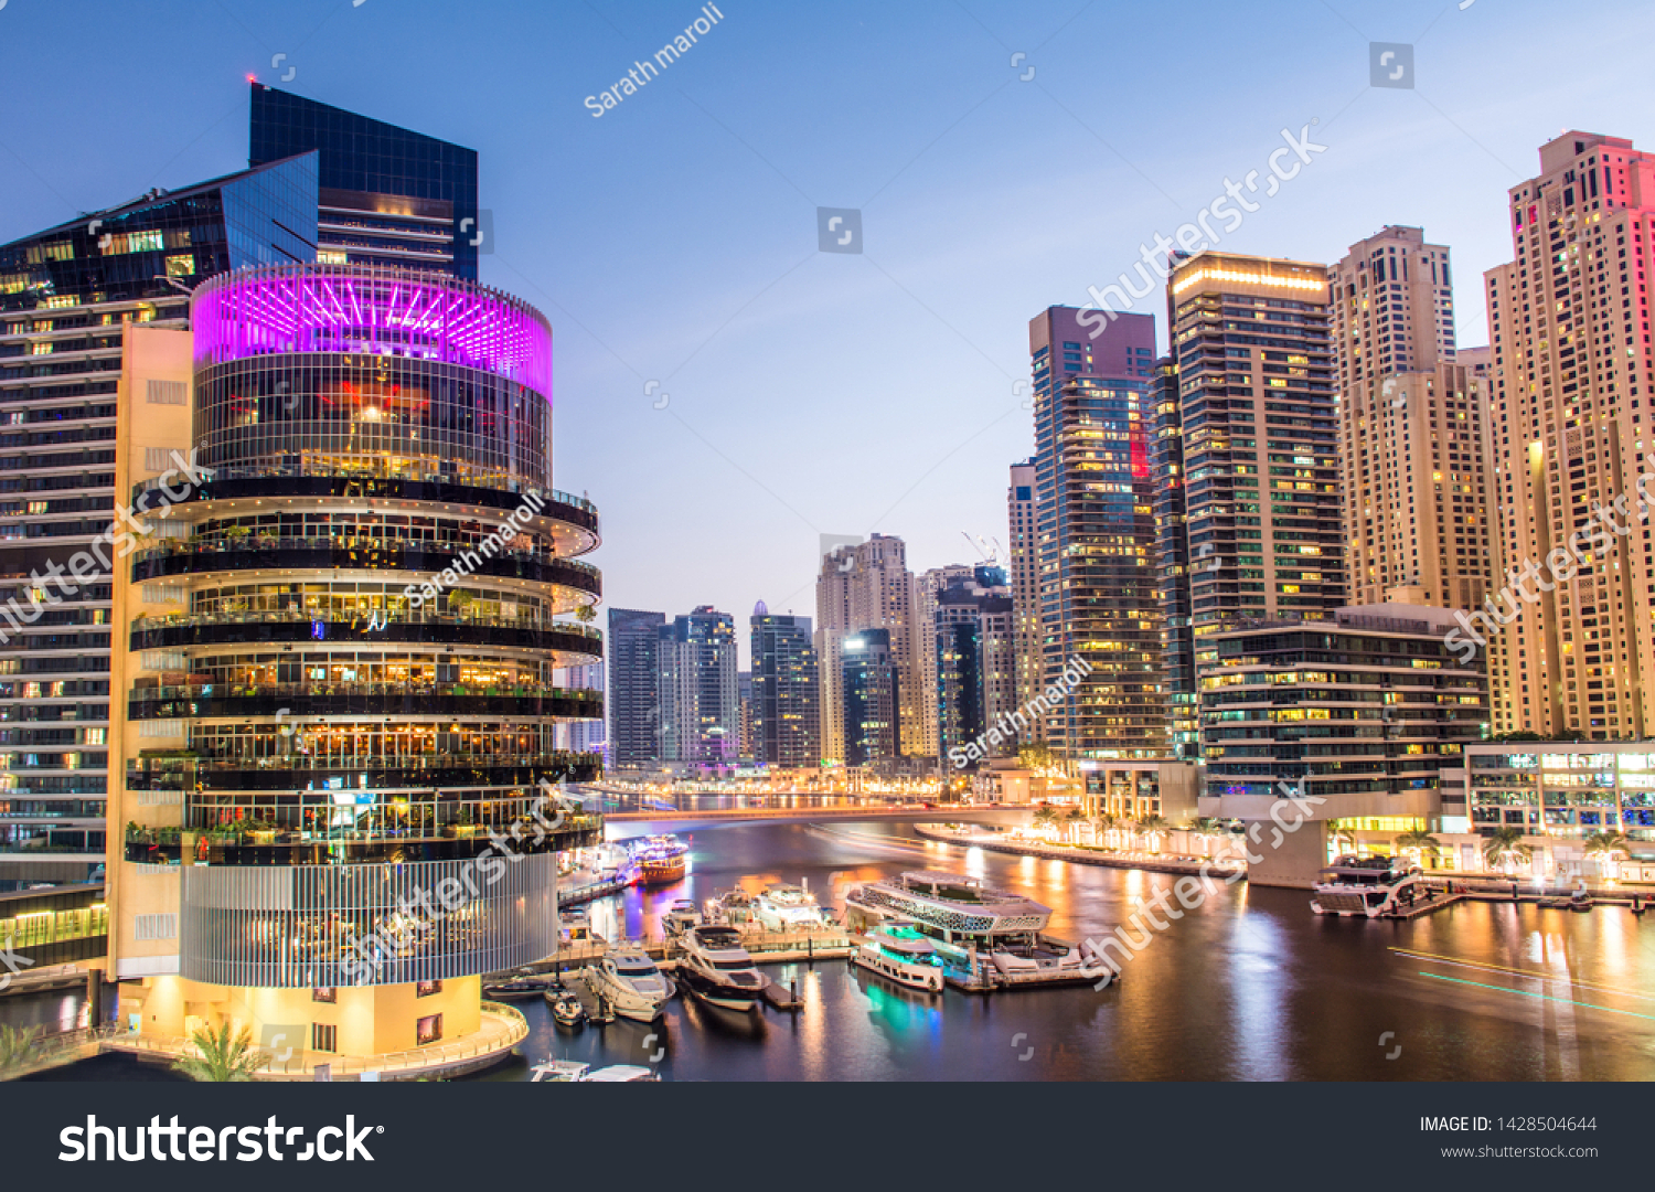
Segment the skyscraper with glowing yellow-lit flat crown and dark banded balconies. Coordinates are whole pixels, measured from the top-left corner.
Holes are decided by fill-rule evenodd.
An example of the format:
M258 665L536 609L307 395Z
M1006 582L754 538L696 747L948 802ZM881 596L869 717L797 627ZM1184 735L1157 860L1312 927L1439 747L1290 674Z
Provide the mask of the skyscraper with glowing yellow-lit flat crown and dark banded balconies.
M1202 666L1221 627L1344 604L1327 268L1203 252L1168 293Z

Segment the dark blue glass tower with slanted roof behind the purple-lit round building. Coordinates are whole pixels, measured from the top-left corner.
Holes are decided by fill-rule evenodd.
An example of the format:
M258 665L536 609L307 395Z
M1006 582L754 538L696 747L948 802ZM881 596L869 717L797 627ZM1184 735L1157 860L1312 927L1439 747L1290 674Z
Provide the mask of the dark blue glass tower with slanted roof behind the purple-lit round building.
M248 164L318 154L319 260L477 280L477 151L253 83Z

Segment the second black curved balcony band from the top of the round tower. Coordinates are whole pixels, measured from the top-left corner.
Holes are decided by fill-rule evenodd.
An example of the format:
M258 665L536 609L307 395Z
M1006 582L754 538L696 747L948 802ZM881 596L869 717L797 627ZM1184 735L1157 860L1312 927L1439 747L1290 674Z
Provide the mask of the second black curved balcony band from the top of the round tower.
M470 560L475 558L475 563ZM222 571L399 571L442 574L460 565L468 574L528 579L602 596L602 574L589 563L540 551L500 551L483 558L470 546L432 543L247 536L166 545L132 556L132 583ZM412 574L410 583L419 586Z

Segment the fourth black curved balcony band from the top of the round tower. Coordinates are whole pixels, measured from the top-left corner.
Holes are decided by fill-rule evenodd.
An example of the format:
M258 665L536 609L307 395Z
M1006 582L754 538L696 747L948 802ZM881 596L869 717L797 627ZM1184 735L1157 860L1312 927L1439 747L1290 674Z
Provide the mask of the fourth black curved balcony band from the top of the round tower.
M189 717L323 715L506 715L599 720L602 692L566 687L472 684L200 684L190 687L137 687L127 700L132 720Z

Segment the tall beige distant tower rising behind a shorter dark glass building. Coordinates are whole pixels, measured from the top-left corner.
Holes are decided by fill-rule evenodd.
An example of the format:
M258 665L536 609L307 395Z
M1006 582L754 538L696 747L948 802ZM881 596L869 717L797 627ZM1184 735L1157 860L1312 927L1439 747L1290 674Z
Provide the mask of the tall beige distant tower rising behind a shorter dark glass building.
M889 634L890 656L900 675L899 738L904 757L925 752L925 699L920 692L919 642L914 619L915 583L900 538L871 535L867 541L839 546L823 556L816 579L816 657L823 690L823 758L842 760L849 748L842 715L846 694L839 687L842 642L864 629Z

